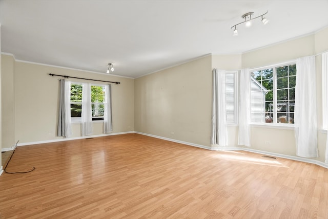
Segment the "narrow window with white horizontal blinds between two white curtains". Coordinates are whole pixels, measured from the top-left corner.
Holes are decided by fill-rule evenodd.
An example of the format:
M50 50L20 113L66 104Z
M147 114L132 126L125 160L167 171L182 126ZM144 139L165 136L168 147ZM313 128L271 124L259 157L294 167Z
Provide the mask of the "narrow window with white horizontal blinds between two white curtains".
M227 123L237 123L237 72L226 72L226 118Z

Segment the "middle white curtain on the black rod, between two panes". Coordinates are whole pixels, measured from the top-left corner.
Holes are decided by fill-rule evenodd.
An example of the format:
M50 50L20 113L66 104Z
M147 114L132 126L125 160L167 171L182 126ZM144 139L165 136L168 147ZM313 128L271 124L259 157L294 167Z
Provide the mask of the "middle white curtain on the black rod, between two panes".
M92 134L91 86L89 83L82 85L81 134L82 136Z

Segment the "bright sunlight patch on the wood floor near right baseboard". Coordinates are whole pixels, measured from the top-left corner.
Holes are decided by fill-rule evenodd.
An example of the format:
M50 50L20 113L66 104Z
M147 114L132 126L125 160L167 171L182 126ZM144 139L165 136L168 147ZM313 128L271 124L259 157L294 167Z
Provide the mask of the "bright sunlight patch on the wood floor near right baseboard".
M232 154L228 154L228 153L232 153ZM236 153L237 155L235 155L233 153ZM221 159L224 159L227 161L237 161L237 162L242 162L242 163L289 168L288 166L285 166L284 164L281 164L280 162L278 162L276 160L269 160L269 158L254 158L254 157L249 157L249 156L243 156L241 154L243 154L243 153L236 152L236 151L224 151L224 152L218 151L217 154L214 154L212 156L221 158Z

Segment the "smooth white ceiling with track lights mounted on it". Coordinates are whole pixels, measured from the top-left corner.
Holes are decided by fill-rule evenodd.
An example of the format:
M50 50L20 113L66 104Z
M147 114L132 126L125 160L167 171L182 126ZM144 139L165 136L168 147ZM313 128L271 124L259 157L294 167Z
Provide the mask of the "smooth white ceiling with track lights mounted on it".
M251 28L231 27L250 11ZM2 52L21 61L138 77L328 26L328 0L0 0ZM282 51L283 52L283 51ZM105 73L106 74L106 73Z

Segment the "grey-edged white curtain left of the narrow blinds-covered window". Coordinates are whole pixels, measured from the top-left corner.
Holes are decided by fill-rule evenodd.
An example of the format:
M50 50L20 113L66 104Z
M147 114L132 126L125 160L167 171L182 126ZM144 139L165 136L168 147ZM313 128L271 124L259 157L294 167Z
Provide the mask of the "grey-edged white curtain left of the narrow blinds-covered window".
M211 144L228 145L226 117L226 72L213 69Z

